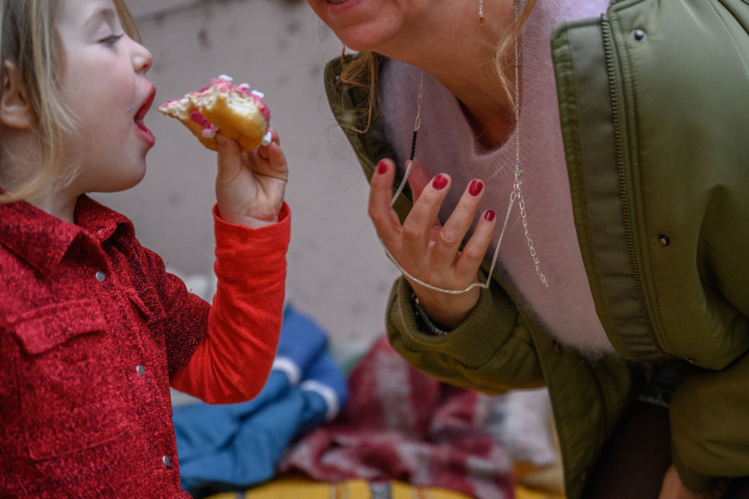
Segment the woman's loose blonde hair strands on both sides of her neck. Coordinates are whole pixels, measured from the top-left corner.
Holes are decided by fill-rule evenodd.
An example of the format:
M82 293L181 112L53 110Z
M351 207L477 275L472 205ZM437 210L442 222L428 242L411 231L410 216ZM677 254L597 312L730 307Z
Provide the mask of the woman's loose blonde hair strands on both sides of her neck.
M494 51L492 76L497 78L497 82L499 82L510 100L514 99L514 91L511 88L513 83L505 76L505 69L510 61L514 61L515 37L520 35L523 25L527 21L528 16L530 16L534 5L536 5L536 0L527 0L525 8L518 15L518 19L512 23L506 34L501 37L497 44L497 49ZM380 89L377 76L380 73L380 64L384 60L385 57L383 55L372 50L364 50L359 52L355 58L348 58L345 62L340 75L340 85L363 91L366 94L366 98L362 101L363 103L356 110L357 119L354 120L354 123L357 124L351 126L351 130L354 132L366 132L372 126L372 123L376 122L380 117Z

